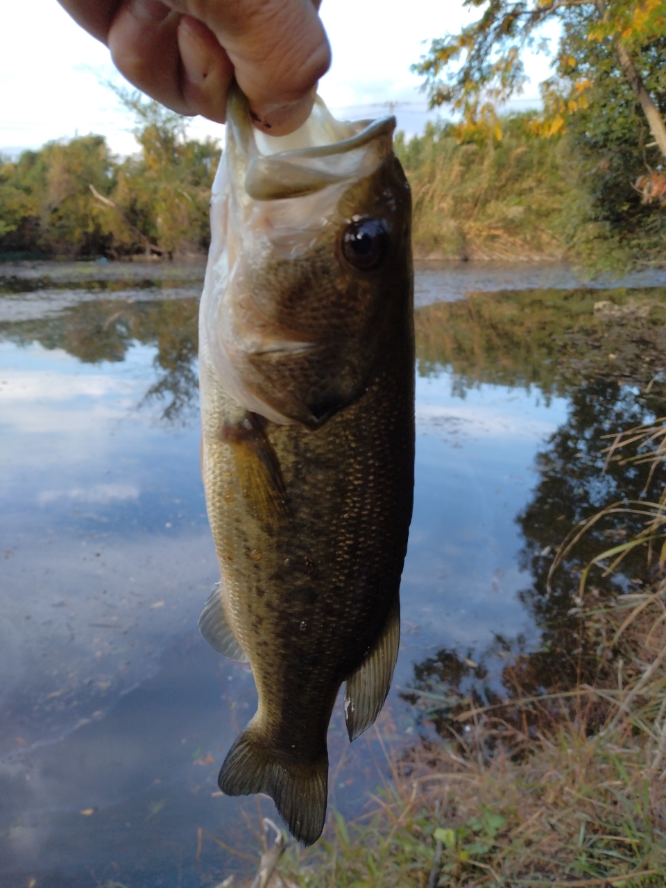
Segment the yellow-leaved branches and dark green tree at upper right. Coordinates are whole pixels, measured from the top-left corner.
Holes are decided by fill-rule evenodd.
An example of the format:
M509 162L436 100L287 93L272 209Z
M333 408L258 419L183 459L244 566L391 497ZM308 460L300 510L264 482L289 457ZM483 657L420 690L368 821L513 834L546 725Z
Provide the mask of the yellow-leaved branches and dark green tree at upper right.
M541 84L543 112L527 127L562 136L555 220L575 261L590 273L626 272L666 255L666 2L664 0L466 0L483 8L456 35L432 41L414 66L432 106L451 103L461 115L461 143L500 142L497 103L521 91L522 54L545 51L540 28L561 24L554 74ZM661 147L661 150L660 150ZM654 169L656 167L656 169Z

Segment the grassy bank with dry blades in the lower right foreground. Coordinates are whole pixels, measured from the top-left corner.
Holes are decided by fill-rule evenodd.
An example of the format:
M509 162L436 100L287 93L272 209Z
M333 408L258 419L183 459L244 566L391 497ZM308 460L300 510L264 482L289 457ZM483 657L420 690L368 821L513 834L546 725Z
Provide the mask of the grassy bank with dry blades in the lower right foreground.
M394 758L369 816L290 849L287 884L665 884L666 584L580 616L614 686L461 710L456 741Z

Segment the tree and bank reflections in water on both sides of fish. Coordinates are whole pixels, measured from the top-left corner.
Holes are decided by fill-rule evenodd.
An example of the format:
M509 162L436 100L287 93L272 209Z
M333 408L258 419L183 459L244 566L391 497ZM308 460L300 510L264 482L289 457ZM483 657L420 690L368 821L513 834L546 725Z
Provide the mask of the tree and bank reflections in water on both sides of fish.
M141 403L160 400L163 419L194 416L198 394L196 298L84 302L52 317L0 325L6 339L61 348L86 363L123 361L132 345L156 349L157 379ZM588 562L629 540L638 516L614 514L595 525L567 554L546 589L552 559L576 523L622 499L658 498L663 475L649 466L612 461L604 449L620 429L666 415L666 290L528 290L475 294L416 313L416 355L422 375L452 369L456 392L474 385L535 387L545 398L566 396L567 423L536 459L539 481L517 521L524 536L520 567L531 582L519 595L541 630L538 650L525 638L496 636L479 654L441 650L415 666L404 694L440 733L470 699L477 705L557 692L590 681L610 664L599 656L583 622L571 613ZM599 600L651 580L645 547L619 574L591 571L588 589ZM502 664L499 668L496 664ZM521 718L524 716L522 713Z

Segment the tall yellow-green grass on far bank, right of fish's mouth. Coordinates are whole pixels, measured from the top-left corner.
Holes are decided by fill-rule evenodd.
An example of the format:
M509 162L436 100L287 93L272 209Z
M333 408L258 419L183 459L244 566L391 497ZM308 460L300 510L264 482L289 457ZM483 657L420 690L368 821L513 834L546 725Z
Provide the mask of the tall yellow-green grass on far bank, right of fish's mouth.
M559 258L566 183L556 139L537 139L527 118L503 122L499 144L459 145L451 127L396 139L412 187L416 256L449 259Z

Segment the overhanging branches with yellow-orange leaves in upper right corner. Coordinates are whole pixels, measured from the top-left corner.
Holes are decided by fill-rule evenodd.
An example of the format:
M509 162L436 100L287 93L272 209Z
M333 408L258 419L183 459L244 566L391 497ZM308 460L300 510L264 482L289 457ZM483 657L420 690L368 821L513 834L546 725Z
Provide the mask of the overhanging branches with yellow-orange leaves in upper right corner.
M579 68L580 51L584 42L599 43L613 52L612 75L622 75L629 83L666 158L666 124L654 100L655 92L666 86L666 74L663 66L648 73L638 60L647 45L666 36L666 0L465 0L464 5L483 8L480 20L460 34L433 40L414 66L425 77L433 106L452 102L463 113L461 138L482 129L501 139L496 103L522 89L522 52L546 50L548 42L540 29L549 20L559 20L565 27L556 75L543 83L543 134L563 130L569 115L588 107L592 80L589 71Z

